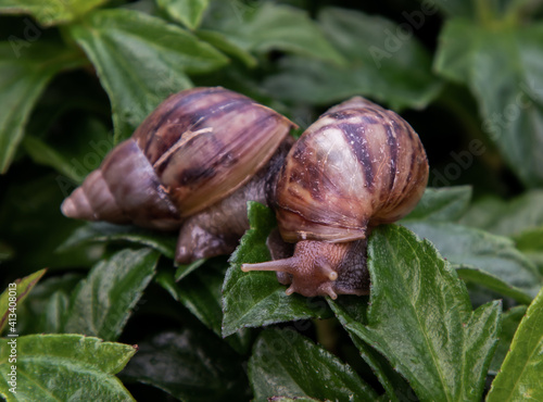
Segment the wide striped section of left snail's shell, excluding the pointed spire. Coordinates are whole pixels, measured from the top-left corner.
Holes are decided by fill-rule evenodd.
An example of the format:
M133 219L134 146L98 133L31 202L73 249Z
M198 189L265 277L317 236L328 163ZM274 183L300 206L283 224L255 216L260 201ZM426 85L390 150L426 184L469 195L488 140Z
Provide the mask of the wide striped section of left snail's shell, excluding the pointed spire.
M169 97L134 134L162 185L189 216L244 185L294 126L224 88Z

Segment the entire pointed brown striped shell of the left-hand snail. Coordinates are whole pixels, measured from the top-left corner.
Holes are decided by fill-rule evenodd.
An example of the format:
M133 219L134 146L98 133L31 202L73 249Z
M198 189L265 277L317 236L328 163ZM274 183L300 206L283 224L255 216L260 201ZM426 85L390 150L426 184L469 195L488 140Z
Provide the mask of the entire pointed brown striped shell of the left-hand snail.
M181 91L106 155L64 200L62 212L88 221L178 228L247 185L293 126L225 88Z

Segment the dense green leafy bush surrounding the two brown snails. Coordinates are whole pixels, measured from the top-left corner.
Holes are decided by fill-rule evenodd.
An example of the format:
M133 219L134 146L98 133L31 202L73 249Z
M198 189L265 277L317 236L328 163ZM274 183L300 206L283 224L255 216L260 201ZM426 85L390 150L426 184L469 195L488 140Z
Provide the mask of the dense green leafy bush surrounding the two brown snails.
M541 12L0 0L0 394L543 400ZM415 127L430 187L372 231L369 297L286 296L273 273L242 273L269 259L275 218L257 203L229 259L177 267L174 235L61 215L115 143L192 86L302 128L362 95Z

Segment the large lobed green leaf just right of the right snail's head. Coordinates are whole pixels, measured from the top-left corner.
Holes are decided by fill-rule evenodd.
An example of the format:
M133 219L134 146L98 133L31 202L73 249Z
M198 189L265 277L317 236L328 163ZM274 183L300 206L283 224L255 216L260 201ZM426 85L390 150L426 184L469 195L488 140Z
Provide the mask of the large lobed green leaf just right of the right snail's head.
M449 263L400 226L374 230L368 267L366 325L329 301L343 326L384 355L420 400L479 401L497 343L500 302L473 312Z

